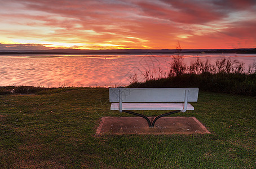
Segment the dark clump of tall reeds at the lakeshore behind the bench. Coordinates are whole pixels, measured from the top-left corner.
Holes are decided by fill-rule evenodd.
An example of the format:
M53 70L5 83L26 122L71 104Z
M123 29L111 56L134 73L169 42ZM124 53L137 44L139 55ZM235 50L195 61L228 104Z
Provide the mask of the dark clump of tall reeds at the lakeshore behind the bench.
M215 64L197 58L187 66L178 54L173 56L167 72L158 68L158 75L154 76L154 71L148 70L142 73L142 82L132 77L129 87L199 87L203 91L256 96L256 63L248 69L244 65L229 58Z

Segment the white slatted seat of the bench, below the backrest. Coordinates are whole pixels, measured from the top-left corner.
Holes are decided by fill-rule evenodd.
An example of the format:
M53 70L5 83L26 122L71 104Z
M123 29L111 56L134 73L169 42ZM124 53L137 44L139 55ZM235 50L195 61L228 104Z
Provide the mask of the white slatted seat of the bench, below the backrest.
M183 110L184 103L122 103L123 110ZM111 110L119 110L119 103L112 103ZM187 104L187 110L194 110Z

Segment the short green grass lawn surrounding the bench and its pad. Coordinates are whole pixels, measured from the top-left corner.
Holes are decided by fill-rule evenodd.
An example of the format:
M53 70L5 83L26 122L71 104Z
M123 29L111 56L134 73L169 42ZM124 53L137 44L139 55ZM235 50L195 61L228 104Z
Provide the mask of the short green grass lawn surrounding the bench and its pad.
M254 168L256 99L201 92L195 116L211 134L96 136L107 88L0 95L0 168ZM157 112L147 112L151 116Z

